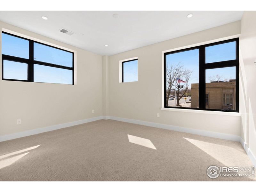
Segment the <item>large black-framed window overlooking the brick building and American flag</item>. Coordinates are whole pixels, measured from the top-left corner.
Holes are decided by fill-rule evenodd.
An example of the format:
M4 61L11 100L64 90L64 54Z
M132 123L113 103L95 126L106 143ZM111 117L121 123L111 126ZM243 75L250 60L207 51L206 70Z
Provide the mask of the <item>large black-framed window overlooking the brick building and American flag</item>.
M164 53L164 107L239 111L239 38Z

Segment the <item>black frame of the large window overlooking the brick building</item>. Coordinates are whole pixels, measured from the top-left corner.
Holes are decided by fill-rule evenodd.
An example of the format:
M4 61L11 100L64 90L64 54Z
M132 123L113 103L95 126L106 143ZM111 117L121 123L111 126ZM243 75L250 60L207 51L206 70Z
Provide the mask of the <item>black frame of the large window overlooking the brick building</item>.
M205 62L205 48L213 45L224 44L229 42L236 42L236 59L227 61L218 61L212 63ZM198 49L199 50L199 82L198 82L198 92L199 92L199 108L186 108L186 107L171 107L166 106L166 56L173 53L184 52ZM235 110L224 110L224 109L209 109L205 106L205 71L207 69L214 68L225 68L225 67L236 67L236 109ZM172 52L164 53L164 108L178 108L178 109L196 109L205 111L228 111L228 112L239 112L239 38L228 39L224 41L219 41L210 44L199 45L195 47L190 47L186 49L180 49Z

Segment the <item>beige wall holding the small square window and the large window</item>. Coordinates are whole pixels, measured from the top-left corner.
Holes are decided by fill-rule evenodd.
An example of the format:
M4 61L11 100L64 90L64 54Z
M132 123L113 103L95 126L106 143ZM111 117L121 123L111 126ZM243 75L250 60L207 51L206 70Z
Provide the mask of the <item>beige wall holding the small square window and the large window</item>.
M109 57L109 116L240 136L240 116L163 111L162 51L240 34L240 21ZM119 60L138 57L138 82L118 82ZM156 114L160 113L160 118Z

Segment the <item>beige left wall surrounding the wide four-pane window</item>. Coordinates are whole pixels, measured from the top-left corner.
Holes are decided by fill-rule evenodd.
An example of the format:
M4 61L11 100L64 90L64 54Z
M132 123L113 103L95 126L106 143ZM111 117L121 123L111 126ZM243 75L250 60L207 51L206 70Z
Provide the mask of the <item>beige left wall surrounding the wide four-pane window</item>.
M77 54L76 85L3 81L1 78L0 136L102 116L101 55L3 22L0 28L66 47ZM16 119L21 119L20 125L16 124Z

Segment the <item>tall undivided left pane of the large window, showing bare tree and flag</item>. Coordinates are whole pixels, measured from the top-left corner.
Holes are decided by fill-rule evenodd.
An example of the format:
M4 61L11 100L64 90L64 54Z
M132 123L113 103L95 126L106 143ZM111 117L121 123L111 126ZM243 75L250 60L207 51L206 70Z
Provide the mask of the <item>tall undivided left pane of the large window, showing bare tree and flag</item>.
M199 50L168 54L165 59L166 106L198 108Z

